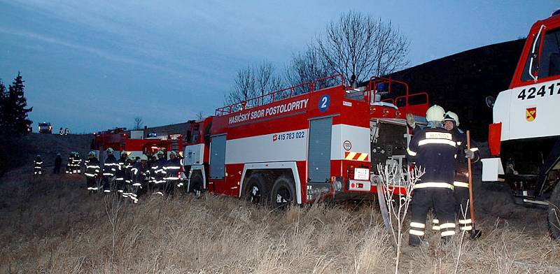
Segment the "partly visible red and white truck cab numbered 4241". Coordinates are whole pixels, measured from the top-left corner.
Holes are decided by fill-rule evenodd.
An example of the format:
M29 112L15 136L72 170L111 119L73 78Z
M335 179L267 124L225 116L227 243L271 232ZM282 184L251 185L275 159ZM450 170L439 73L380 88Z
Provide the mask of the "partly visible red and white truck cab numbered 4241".
M505 182L514 201L548 207L549 230L560 238L560 10L533 24L510 89L493 107L482 180Z

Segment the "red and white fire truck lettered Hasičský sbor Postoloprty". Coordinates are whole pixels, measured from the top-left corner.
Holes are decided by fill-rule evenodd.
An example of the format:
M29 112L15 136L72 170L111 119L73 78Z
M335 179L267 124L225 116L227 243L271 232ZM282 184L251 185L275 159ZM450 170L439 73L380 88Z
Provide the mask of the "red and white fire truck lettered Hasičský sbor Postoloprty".
M425 121L427 108L428 94L409 94L404 82L352 88L342 75L218 108L190 125L186 189L273 207L371 198L372 166L406 166L405 115Z

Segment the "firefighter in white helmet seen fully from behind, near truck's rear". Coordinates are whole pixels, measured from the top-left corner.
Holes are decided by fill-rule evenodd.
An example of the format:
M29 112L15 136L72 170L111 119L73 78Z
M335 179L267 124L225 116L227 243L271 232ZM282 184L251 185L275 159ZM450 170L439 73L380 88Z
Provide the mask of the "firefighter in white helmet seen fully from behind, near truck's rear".
M453 181L457 143L453 134L443 128L444 113L437 105L428 108L428 126L414 135L407 149L409 161L426 172L416 182L410 204L409 245L412 246L422 243L430 208L440 219L444 243L455 235Z

